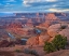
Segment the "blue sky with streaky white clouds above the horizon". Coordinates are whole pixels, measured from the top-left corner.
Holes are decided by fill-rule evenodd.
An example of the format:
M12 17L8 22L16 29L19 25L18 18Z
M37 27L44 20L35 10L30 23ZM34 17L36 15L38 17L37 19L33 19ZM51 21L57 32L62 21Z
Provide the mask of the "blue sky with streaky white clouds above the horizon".
M0 13L69 12L69 0L0 0Z

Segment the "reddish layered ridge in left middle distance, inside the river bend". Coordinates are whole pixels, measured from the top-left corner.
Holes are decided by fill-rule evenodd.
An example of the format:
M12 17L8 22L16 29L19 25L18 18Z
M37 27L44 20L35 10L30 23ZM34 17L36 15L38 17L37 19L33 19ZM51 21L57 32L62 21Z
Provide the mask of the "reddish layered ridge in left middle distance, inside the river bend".
M29 30L31 31L32 29L32 22L31 19L29 19L27 22L26 25L22 25L22 23L11 23L8 27L6 27L6 30L8 32L11 32L13 33L15 37L24 37L24 36L27 36L28 33L31 33L29 32ZM33 32L33 31L32 31Z

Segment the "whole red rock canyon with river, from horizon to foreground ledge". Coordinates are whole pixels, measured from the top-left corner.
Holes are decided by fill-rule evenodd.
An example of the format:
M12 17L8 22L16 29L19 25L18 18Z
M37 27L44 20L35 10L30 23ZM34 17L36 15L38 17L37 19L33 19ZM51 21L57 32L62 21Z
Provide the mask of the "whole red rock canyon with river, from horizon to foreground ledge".
M14 13L14 14L15 14L14 16L0 17L1 51L3 51L3 48L4 51L6 51L6 48L10 48L9 51L14 52L15 50L24 51L25 48L29 48L29 50L36 50L39 56L50 56L45 55L43 51L45 41L51 42L56 34L61 34L67 37L67 41L69 43L68 13ZM61 29L61 26L66 26L66 28ZM68 46L67 48L69 48ZM59 54L59 52L56 53ZM17 53L15 53L15 55ZM30 54L27 55L25 53L22 53L22 55L33 56Z

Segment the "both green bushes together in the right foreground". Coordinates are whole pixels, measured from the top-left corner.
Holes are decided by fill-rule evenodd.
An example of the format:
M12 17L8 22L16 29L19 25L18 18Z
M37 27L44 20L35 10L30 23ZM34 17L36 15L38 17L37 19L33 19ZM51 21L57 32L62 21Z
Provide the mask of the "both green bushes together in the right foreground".
M46 53L51 53L59 50L65 50L66 44L67 44L67 38L60 34L57 34L55 36L55 39L51 43L45 42L44 51Z

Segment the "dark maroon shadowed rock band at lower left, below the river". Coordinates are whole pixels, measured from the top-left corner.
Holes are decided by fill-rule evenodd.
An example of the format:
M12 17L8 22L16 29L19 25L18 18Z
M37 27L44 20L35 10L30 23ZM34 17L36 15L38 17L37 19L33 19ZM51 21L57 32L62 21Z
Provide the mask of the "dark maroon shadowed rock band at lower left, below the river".
M14 47L15 45L26 45L26 41L19 39L10 42L8 40L0 41L0 47L10 47L10 46Z

